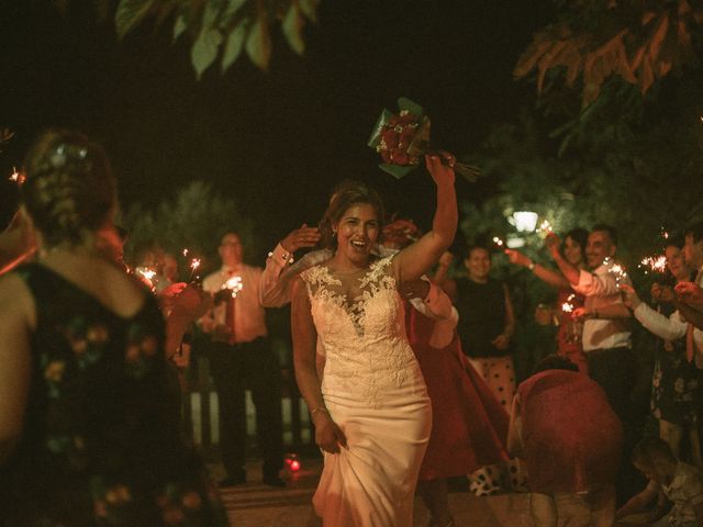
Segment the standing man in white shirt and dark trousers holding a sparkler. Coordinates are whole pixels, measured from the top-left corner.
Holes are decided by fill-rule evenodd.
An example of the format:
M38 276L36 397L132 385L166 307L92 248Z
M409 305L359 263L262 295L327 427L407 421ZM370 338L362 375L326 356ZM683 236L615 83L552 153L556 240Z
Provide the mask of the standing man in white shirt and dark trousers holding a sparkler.
M245 389L252 390L256 431L264 458L264 483L284 486L281 378L267 339L266 312L259 302L261 269L243 262L239 236L227 233L219 247L222 267L203 280L214 306L200 319L210 335L210 369L220 405L220 448L227 473L221 486L246 482Z

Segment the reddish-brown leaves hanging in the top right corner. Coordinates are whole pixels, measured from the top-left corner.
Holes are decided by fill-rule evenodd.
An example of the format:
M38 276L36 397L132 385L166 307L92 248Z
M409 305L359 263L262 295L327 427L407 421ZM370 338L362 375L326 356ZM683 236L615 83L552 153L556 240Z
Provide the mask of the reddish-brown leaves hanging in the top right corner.
M566 3L566 2L563 2ZM537 70L537 91L548 71L568 87L581 81L581 105L592 104L603 82L618 77L645 94L657 79L698 60L693 35L703 24L696 0L581 0L558 22L534 35L514 69L516 78Z

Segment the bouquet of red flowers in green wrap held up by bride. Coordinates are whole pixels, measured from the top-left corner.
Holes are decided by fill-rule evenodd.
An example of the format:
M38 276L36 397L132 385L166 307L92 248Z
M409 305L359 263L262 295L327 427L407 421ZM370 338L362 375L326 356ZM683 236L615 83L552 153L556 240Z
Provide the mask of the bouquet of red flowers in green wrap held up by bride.
M429 145L429 117L423 108L405 97L398 100L399 113L383 110L378 119L368 145L381 155L381 170L400 179L421 165L425 154L437 152ZM448 162L439 156L443 162ZM455 171L469 181L476 181L479 169L456 162Z

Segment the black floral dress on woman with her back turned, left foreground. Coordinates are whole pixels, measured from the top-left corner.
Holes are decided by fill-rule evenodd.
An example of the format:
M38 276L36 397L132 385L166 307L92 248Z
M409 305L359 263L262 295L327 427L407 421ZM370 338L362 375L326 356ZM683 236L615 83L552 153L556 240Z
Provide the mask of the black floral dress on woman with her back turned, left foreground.
M226 525L181 439L156 301L125 318L46 267L15 272L37 325L24 433L0 469L0 525Z

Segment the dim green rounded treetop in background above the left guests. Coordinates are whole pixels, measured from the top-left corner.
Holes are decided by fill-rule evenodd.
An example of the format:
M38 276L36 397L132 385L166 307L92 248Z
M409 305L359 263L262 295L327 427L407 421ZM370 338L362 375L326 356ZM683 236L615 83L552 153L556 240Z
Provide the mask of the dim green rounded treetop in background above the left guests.
M203 259L203 269L213 268L220 239L232 231L239 234L245 255L256 249L253 222L238 212L235 200L203 181L193 181L155 210L136 204L121 221L129 233L125 256L130 262L141 248L158 246L181 259L187 248L189 258Z

